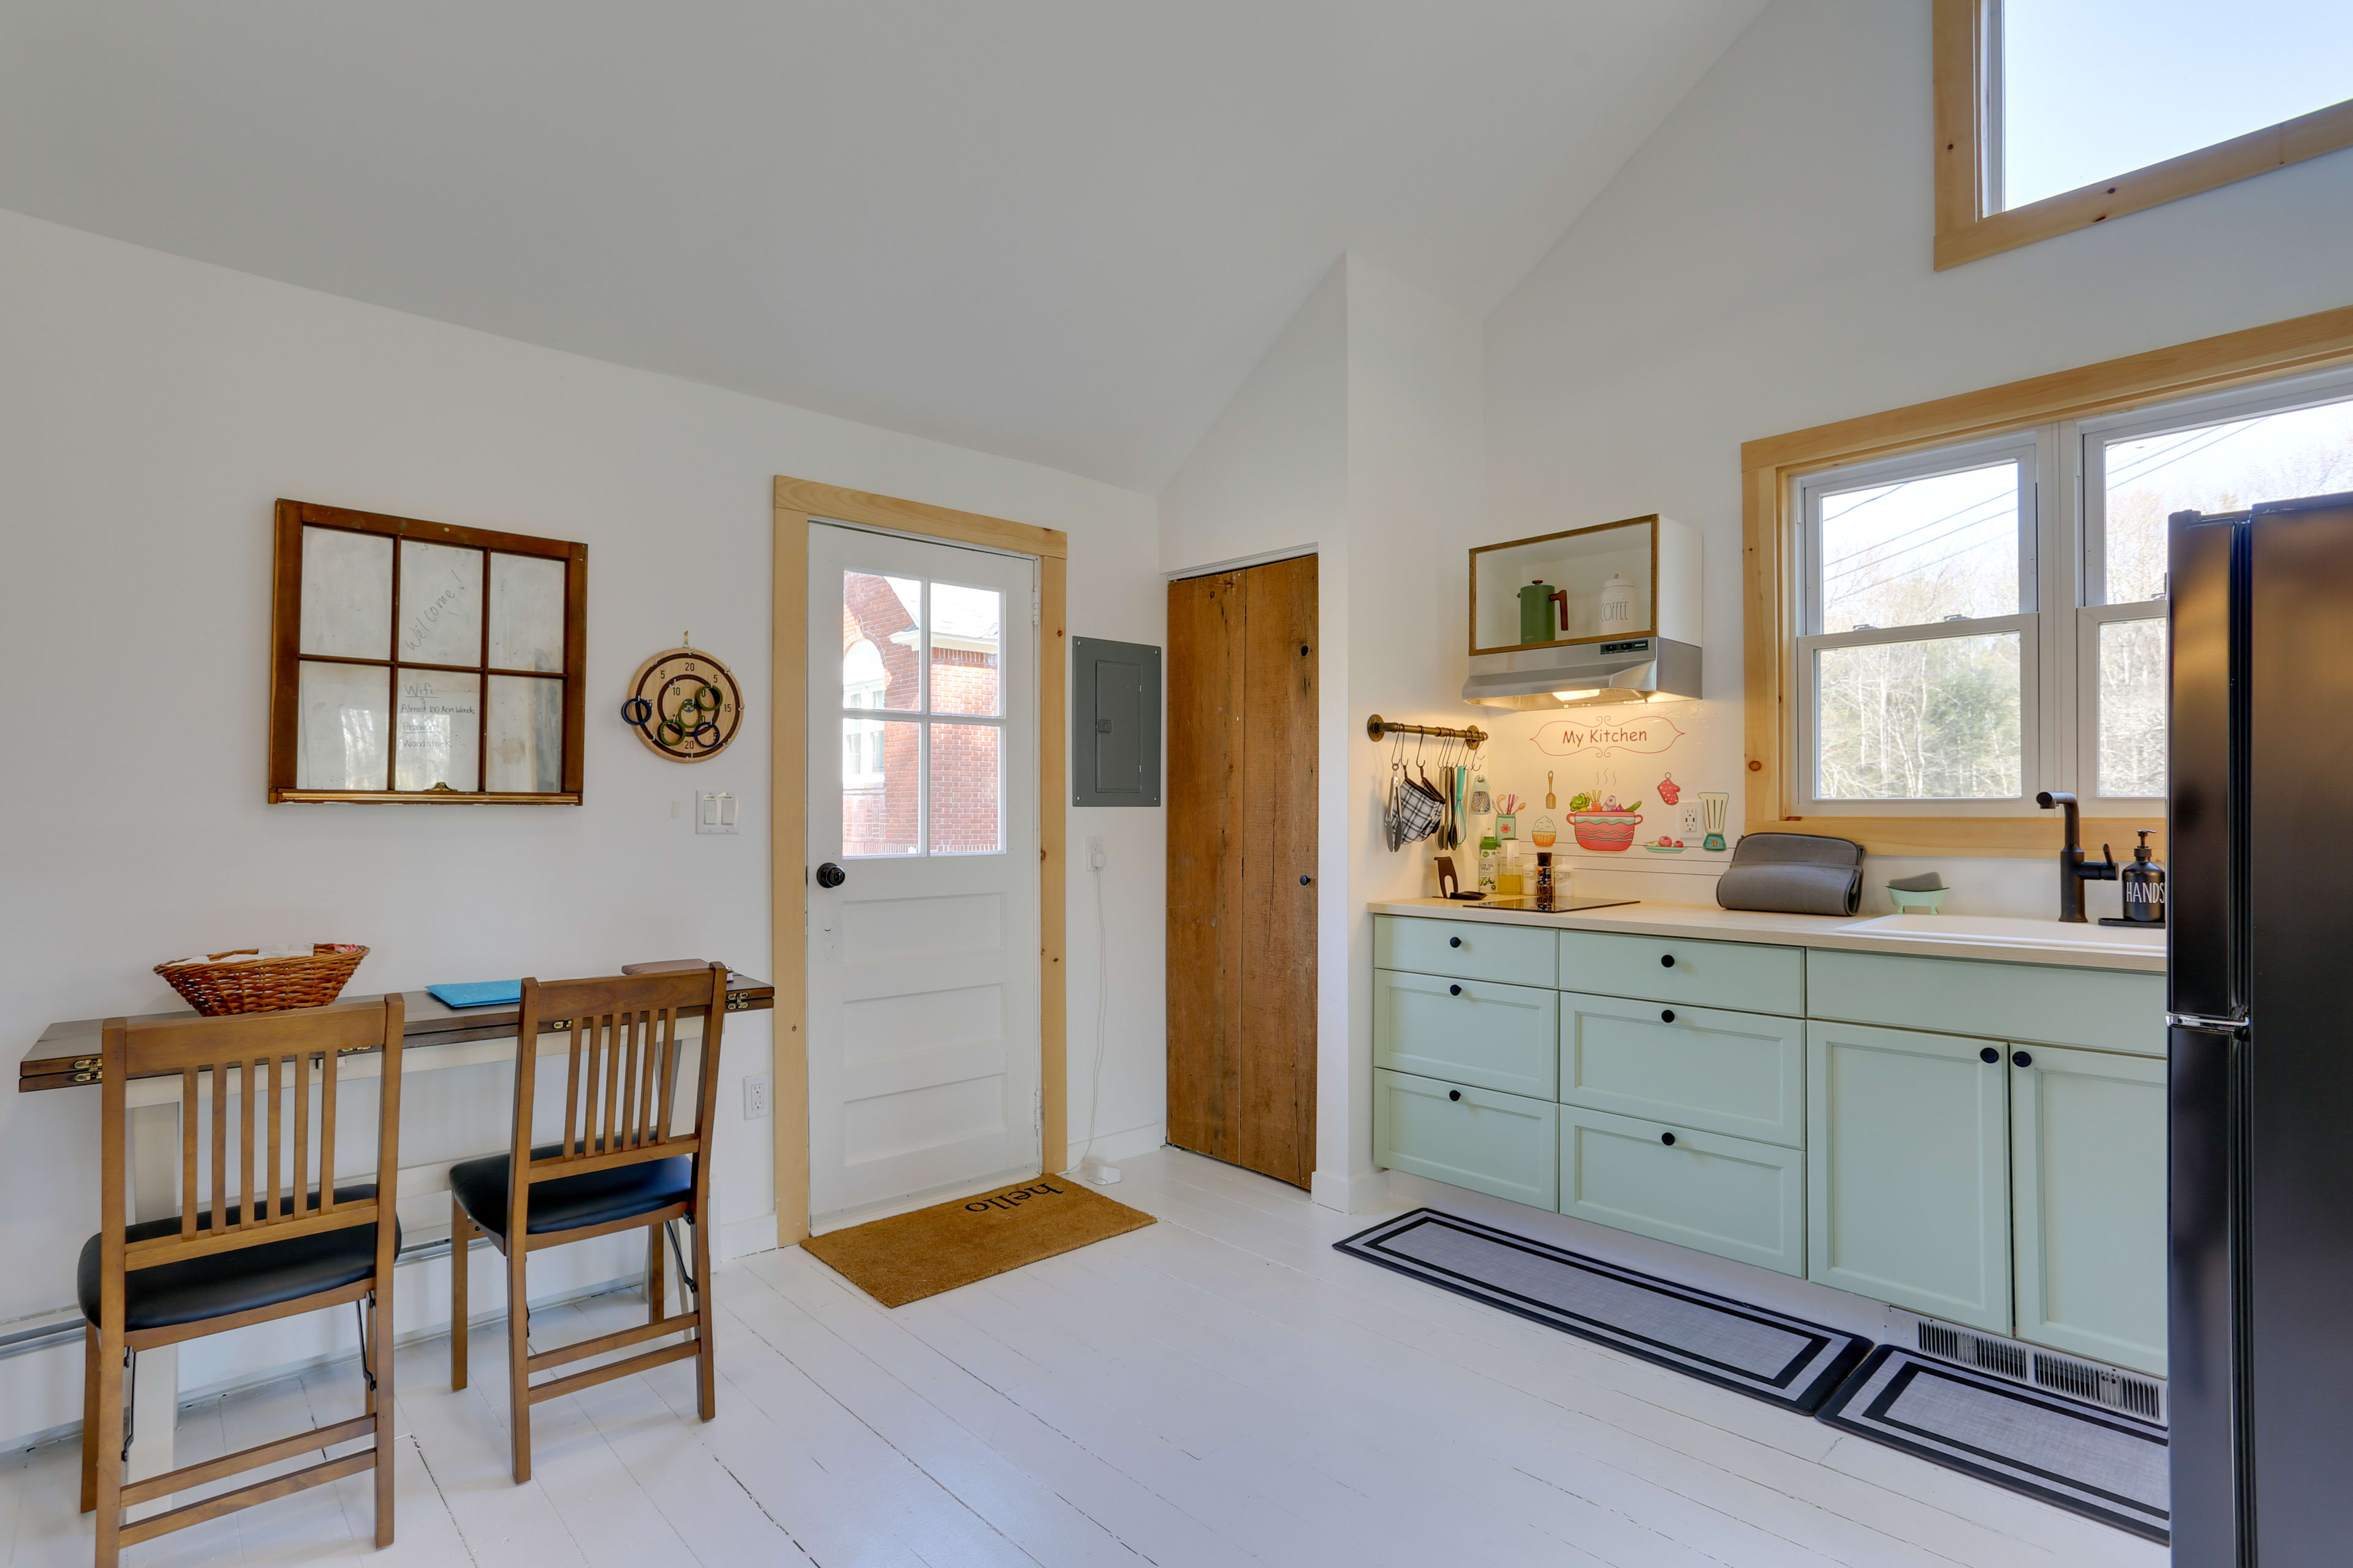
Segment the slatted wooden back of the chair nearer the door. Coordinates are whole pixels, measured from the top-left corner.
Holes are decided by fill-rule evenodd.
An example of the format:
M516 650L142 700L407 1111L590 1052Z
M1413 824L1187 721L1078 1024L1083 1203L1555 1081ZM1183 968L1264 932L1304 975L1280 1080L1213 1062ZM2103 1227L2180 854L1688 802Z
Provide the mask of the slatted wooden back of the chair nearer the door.
M678 1131L678 1067L687 1046L678 1025L692 1013L704 1016L692 1084L694 1131ZM725 964L598 980L525 980L515 1056L515 1173L508 1190L518 1218L529 1182L706 1150L725 1016ZM534 1159L534 1041L541 1030L569 1030L572 1041L555 1154Z

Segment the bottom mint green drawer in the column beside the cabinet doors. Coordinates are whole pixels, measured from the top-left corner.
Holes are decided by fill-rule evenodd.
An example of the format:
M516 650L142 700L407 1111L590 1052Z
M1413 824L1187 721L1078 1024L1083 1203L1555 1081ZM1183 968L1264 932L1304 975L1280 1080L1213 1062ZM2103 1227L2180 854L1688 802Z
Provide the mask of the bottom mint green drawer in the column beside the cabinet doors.
M1569 1105L1560 1213L1805 1279L1805 1154L1772 1143Z

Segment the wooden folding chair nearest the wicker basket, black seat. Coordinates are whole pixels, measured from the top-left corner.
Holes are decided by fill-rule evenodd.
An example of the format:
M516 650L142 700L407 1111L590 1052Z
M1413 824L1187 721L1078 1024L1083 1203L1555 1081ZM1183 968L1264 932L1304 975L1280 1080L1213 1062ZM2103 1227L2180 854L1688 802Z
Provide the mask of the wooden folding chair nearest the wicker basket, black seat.
M85 1331L82 1512L99 1514L99 1568L122 1547L325 1481L376 1472L376 1544L393 1544L393 1258L400 1222L400 997L384 1001L125 1023L101 1034L104 1124L99 1218L82 1246ZM374 1185L336 1187L336 1079L358 1051L381 1051ZM129 1225L125 1095L134 1077L179 1077L179 1215ZM311 1086L318 1084L318 1152ZM292 1093L289 1093L292 1091ZM292 1098L292 1117L285 1100ZM228 1124L238 1135L231 1147ZM207 1131L209 1124L209 1131ZM209 1161L202 1159L209 1145ZM315 1182L313 1182L313 1159ZM207 1168L209 1166L209 1168ZM200 1180L200 1168L209 1182ZM235 1180L233 1180L235 1178ZM219 1460L122 1481L125 1366L141 1349L365 1302L360 1368L367 1415L259 1443ZM351 1439L339 1460L254 1481L136 1523L122 1509L292 1460Z

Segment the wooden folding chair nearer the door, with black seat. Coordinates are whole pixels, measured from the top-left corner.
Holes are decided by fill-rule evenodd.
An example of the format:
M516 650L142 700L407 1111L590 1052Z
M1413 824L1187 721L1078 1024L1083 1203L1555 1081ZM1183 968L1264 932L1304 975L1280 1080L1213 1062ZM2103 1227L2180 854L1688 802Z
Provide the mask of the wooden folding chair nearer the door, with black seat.
M673 1131L682 1009L706 1009L692 1133ZM725 964L680 973L522 983L513 1147L449 1166L449 1387L466 1387L466 1246L480 1232L506 1255L506 1396L518 1483L532 1479L532 1406L541 1399L694 1356L701 1415L718 1415L718 1373L711 1363L711 1124L725 1016ZM569 1030L572 1048L562 1131L555 1143L534 1145L541 1030ZM694 1272L685 1281L694 1307L664 1316L661 1241L671 1220L694 1227ZM647 1321L532 1354L525 1288L529 1255L640 1227ZM515 1246L515 1237L522 1237L522 1246ZM532 1382L532 1373L682 1331L694 1338Z

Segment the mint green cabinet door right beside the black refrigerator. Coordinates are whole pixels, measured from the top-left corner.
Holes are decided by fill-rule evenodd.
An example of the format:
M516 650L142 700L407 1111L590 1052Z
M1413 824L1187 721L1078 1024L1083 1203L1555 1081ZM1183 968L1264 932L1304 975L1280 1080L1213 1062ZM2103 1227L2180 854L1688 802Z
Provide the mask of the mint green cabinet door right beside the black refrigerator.
M2165 1063L2012 1046L2019 1338L2165 1375Z

